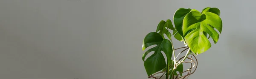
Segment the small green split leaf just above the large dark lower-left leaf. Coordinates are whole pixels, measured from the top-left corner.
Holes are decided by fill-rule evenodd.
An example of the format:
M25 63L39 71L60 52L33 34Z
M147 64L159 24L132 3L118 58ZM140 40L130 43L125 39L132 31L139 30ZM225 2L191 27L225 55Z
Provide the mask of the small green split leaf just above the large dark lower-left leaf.
M171 30L174 30L174 27L173 27L173 25L172 25L172 21L170 20L170 19L168 19L166 22L165 21L160 21L160 23L158 24L158 26L157 26L157 31L156 32L158 32L159 31L159 34L164 38L164 34L166 34L167 35L167 37L169 38L169 39L171 39L171 33L169 32L169 30L168 29L166 29L166 28L168 28L168 29L171 29Z

